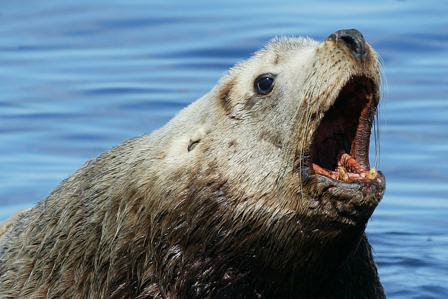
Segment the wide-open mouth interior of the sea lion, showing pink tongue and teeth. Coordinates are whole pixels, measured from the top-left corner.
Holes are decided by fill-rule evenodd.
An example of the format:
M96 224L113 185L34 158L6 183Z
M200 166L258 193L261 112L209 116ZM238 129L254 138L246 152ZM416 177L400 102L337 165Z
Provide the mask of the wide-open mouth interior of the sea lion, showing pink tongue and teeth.
M341 89L314 133L307 161L310 174L351 182L381 182L369 168L370 130L378 99L370 78L355 77ZM313 173L314 172L314 173Z

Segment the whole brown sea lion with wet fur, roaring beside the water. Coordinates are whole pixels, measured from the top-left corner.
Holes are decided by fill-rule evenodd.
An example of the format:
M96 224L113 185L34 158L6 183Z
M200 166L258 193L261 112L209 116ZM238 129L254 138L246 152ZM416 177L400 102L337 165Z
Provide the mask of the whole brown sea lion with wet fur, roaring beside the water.
M358 30L275 38L1 236L1 298L385 298L364 230L379 62Z

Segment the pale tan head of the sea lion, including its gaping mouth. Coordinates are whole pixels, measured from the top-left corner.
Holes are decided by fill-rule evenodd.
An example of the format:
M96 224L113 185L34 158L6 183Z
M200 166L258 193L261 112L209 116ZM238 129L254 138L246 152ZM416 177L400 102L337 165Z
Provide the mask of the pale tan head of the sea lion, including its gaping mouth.
M303 214L311 226L363 226L385 187L368 160L379 81L358 30L322 43L275 38L187 108L195 115L182 170L198 186L226 182L237 205Z

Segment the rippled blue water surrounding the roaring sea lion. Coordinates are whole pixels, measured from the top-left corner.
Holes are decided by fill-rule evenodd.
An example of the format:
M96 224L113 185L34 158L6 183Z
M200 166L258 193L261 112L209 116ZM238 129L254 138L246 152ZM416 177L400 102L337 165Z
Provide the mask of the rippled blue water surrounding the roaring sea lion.
M0 220L163 126L274 35L357 28L388 84L388 188L367 226L381 281L388 298L448 298L448 1L125 3L0 2Z

